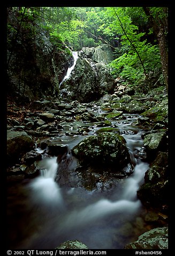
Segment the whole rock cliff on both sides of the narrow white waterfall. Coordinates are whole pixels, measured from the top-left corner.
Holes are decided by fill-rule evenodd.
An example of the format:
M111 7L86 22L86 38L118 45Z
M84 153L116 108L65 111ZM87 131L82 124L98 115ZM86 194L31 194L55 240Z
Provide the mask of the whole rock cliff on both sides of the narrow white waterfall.
M71 77L59 88L72 51L57 37L42 29L41 20L7 13L7 95L16 103L64 97L91 102L112 93L115 80L108 63L113 60L107 45L82 48ZM44 27L44 26L43 26Z

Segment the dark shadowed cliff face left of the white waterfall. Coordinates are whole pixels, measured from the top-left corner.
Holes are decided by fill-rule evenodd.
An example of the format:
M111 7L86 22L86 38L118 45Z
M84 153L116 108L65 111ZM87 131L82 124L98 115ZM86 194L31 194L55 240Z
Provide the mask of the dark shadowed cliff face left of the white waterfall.
M69 48L60 41L52 44L41 26L31 20L19 27L18 17L8 14L7 95L22 103L56 97L71 62Z

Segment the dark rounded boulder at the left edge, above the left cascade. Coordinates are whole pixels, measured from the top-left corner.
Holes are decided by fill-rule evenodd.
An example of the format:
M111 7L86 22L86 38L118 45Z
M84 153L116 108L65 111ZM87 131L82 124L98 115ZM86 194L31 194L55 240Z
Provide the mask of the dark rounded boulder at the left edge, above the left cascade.
M18 161L22 154L33 147L34 141L26 132L7 131L7 164Z

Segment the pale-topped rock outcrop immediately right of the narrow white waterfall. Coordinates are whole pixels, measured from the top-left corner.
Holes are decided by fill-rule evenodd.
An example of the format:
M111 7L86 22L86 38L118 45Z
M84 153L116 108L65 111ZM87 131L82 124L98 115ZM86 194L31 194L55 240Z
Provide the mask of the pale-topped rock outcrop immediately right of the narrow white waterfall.
M63 83L71 98L79 102L91 102L106 92L112 93L115 80L106 66L112 61L112 51L106 45L82 48L70 79ZM109 53L110 52L110 53Z

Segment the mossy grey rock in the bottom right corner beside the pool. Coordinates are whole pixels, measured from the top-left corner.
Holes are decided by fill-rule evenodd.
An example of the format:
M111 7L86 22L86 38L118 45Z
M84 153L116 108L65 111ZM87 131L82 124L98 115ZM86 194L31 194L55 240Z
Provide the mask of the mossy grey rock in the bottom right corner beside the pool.
M168 249L168 227L158 227L139 236L139 239L127 244L125 249Z

